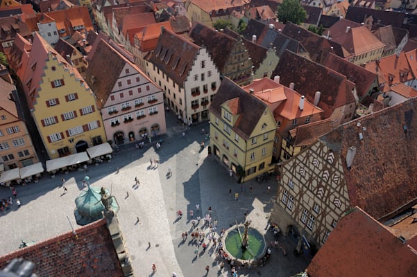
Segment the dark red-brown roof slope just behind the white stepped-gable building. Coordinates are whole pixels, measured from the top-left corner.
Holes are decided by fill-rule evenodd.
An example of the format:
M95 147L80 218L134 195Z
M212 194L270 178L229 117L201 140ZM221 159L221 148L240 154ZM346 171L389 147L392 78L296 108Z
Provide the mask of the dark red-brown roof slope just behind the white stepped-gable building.
M224 71L225 63L230 57L235 44L237 44L237 39L225 35L225 33L217 32L201 23L193 24L188 35L195 44L205 46L219 71Z

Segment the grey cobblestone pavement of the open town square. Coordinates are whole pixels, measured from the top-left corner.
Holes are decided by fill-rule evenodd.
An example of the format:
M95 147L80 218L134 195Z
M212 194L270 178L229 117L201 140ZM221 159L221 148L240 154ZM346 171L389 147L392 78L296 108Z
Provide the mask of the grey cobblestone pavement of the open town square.
M203 217L211 206L212 219L218 222L217 231L243 222L244 213L248 213L253 220L250 226L266 233L266 242L270 243L273 236L267 229L267 221L277 184L272 178L262 184L249 181L241 193L241 184L229 177L228 170L215 157L207 156L207 148L201 151L201 141L206 146L209 143L205 132L202 134L202 129L209 127L207 123L182 129L176 116L169 112L167 126L167 135L161 136L163 143L158 152L153 143L141 150L133 144L123 145L110 163L90 166L87 173L70 172L55 179L44 175L37 184L17 187L22 206L17 209L14 204L0 215L0 226L5 227L1 232L0 255L18 249L21 239L40 242L71 231L69 221L76 227L74 199L83 189L82 181L87 174L92 186L105 186L119 202L118 218L135 276L172 276L173 272L190 277L230 276L228 265L219 271L219 260L210 251L211 245L204 253L200 248L196 256L196 244L191 238L182 242L181 233L192 229L189 211L194 211L193 218ZM150 159L158 159L158 166L151 168ZM167 174L169 166L172 175ZM65 194L61 177L66 179L68 192ZM135 177L140 181L138 188L134 186ZM266 193L268 184L271 193ZM249 192L250 186L253 193ZM239 193L239 201L229 195L229 189L232 195ZM0 188L0 198L10 195L9 188ZM196 204L200 205L200 211L196 211ZM183 211L179 220L178 210ZM208 229L203 229L201 224L197 227L207 233ZM239 269L239 276L290 276L305 269L310 258L293 255L295 242L282 236L278 241L286 245L286 256L279 249L272 249L264 267ZM158 269L155 274L151 269L153 263ZM206 265L210 266L207 275Z

